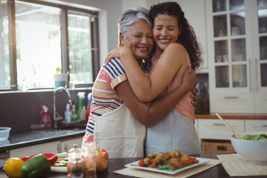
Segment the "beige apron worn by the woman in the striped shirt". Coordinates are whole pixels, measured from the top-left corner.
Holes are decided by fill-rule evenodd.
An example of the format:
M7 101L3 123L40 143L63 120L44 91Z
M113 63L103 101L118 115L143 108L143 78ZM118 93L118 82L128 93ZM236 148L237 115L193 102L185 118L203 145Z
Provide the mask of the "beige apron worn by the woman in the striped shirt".
M146 126L139 123L125 104L95 118L94 141L110 158L144 156Z

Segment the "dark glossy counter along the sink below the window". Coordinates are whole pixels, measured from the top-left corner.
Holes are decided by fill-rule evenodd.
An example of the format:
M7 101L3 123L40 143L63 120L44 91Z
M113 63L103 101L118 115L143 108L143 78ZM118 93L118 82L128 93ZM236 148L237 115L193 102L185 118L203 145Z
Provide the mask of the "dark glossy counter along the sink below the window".
M86 127L85 127L86 129ZM12 130L11 130L12 131ZM10 132L7 140L0 142L0 152L83 136L86 130L26 130Z

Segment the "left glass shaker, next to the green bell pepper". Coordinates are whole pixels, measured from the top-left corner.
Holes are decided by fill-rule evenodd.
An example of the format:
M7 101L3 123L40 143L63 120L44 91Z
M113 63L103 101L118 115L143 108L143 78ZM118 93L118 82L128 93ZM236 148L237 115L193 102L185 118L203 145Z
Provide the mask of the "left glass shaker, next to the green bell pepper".
M84 157L81 148L77 148L77 144L73 144L74 148L68 151L69 155L69 173L71 178L84 178Z

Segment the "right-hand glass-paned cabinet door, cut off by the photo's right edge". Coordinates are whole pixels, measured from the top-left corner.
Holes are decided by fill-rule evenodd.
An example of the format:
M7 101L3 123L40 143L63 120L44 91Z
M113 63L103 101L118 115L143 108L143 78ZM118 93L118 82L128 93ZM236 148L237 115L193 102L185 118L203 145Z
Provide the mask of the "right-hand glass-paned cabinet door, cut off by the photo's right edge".
M255 112L267 113L267 1L252 0Z

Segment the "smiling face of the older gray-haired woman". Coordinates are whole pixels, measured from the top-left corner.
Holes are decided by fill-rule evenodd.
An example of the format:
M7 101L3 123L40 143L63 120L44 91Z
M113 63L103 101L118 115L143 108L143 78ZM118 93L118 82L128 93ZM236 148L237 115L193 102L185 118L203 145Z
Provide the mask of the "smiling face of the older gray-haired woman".
M136 60L145 59L153 49L152 29L143 20L137 20L126 35L120 38L122 44L132 50Z

